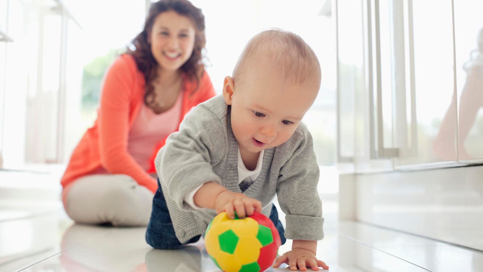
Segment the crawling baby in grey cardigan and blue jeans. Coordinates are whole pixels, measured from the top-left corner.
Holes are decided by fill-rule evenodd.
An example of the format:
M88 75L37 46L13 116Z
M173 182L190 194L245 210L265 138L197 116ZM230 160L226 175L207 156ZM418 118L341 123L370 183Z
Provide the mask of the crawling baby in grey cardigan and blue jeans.
M265 30L245 46L223 94L199 104L158 152L158 190L146 231L155 248L197 242L213 217L268 216L292 250L274 267L318 270L324 238L319 167L301 121L320 88L320 64L298 35ZM286 229L272 203L286 214Z

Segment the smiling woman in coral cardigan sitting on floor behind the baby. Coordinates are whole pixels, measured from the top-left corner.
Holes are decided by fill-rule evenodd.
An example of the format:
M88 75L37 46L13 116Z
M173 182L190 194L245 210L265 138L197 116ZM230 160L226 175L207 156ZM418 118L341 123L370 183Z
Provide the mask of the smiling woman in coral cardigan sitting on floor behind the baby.
M62 177L62 202L74 221L147 225L156 152L193 106L215 94L201 62L204 29L201 10L188 0L151 5L135 50L107 71L98 119Z

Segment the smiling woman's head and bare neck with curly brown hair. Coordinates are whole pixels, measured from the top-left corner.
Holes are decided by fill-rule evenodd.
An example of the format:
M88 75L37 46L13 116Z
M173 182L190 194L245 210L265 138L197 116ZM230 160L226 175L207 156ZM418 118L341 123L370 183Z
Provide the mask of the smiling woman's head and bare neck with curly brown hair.
M145 103L156 113L174 103L176 92L170 89L179 89L183 78L180 75L199 84L204 72L200 61L201 49L206 44L204 16L188 3L186 0L153 3L144 29L133 40L136 50L128 51L144 74Z

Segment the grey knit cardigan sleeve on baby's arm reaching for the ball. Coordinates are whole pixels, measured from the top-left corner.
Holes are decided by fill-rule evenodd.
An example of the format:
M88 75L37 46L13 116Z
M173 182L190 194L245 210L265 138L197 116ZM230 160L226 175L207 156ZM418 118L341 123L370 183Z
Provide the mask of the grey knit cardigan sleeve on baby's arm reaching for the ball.
M213 166L221 161L225 149L226 132L221 121L206 107L195 107L156 156L156 171L165 196L169 195L179 208L193 210L185 196L208 181L221 184Z

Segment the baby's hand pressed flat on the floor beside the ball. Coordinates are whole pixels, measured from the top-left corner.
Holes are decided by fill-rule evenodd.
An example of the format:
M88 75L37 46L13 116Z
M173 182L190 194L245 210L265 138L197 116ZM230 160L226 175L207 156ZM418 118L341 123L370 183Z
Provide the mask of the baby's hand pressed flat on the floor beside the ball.
M313 271L317 271L319 266L323 269L329 269L327 264L318 260L312 251L302 248L294 248L276 258L273 267L279 267L283 263L288 264L290 270L297 270L298 267L300 271L307 271L307 267L311 267Z

